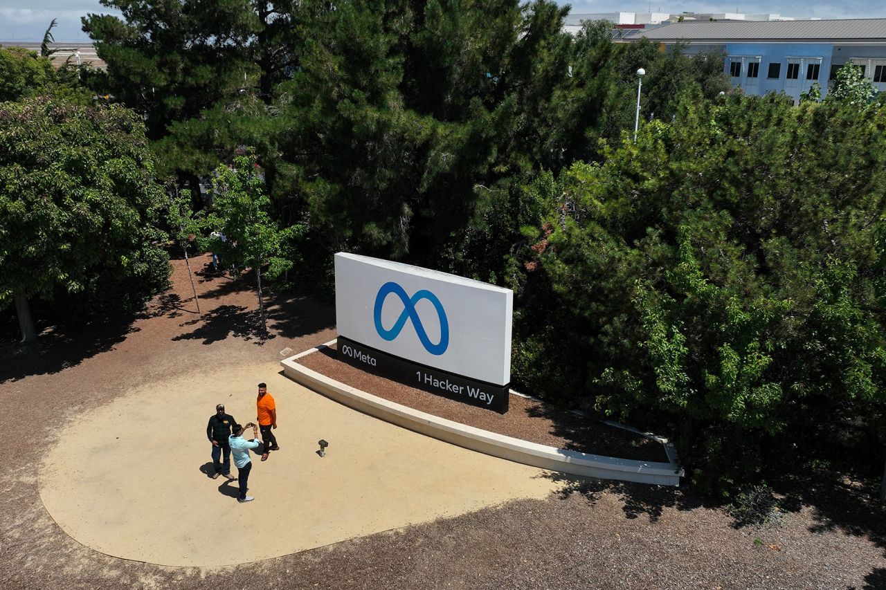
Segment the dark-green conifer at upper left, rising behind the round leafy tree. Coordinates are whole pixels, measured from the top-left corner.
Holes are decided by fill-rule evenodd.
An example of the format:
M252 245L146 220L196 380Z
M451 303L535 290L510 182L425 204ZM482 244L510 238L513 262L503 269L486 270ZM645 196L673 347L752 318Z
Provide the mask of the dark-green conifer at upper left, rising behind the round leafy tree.
M120 19L89 14L83 30L96 42L107 74L92 81L145 117L148 136L235 96L253 65L242 50L246 0L218 3L103 0Z

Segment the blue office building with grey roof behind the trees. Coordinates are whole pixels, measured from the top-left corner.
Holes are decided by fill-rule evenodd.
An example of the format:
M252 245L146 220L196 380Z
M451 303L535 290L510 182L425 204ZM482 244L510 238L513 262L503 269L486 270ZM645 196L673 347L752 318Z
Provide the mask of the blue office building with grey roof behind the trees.
M795 101L819 82L822 96L836 71L860 66L878 91L886 90L886 19L676 22L627 35L663 49L688 43L688 54L726 53L726 74L747 94L784 92Z

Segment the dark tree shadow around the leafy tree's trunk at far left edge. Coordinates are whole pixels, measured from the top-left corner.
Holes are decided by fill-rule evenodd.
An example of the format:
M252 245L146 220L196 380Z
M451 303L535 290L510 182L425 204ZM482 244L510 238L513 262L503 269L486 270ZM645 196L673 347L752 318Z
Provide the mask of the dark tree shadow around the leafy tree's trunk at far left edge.
M4 326L3 338L0 338L0 383L74 367L98 353L113 350L129 334L139 330L134 327L132 316L76 324L43 320L39 304L32 304L31 308L40 336L35 342L22 345L16 342L17 331ZM17 321L15 326L17 329Z

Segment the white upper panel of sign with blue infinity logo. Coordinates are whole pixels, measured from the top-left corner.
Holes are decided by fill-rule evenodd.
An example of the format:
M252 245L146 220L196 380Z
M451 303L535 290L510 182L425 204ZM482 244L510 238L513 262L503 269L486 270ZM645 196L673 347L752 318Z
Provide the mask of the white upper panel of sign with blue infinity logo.
M514 292L368 256L335 255L338 335L488 384L510 383Z

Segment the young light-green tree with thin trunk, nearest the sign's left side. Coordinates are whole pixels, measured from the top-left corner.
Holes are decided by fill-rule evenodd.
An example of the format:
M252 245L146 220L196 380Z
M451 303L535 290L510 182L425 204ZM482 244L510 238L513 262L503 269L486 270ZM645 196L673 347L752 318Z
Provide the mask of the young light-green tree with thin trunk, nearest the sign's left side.
M261 325L268 330L264 297L261 290L262 268L265 276L276 278L292 266L292 261L281 256L287 240L296 239L301 226L279 229L268 208L270 199L265 194L264 179L254 155L237 156L233 167L221 165L213 178L213 206L206 218L208 228L227 238L211 240L213 252L219 252L225 264L236 268L251 268L259 290Z

